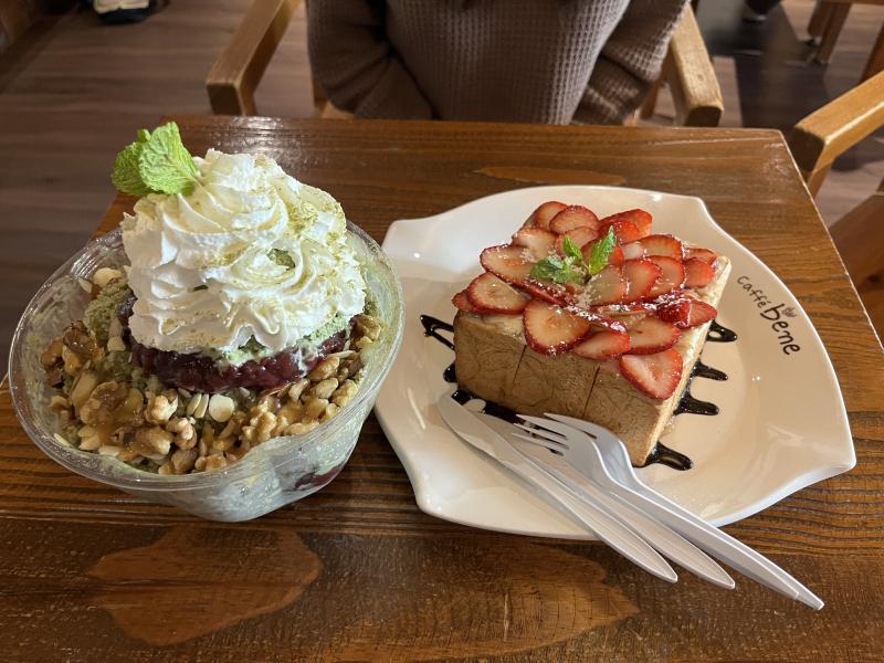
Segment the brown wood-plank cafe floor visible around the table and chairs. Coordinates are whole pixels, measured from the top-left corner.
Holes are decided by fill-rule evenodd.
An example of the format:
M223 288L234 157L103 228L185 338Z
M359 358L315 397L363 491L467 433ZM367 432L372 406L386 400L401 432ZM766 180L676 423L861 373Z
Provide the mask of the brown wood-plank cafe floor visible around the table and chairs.
M114 196L114 156L166 113L209 113L206 74L251 0L171 0L148 21L103 25L75 9L0 54L0 375L22 308L88 238ZM788 130L856 84L884 7L855 6L828 67L804 44L811 0L786 0L764 24L740 0L704 0L698 20L725 98L723 126ZM257 94L263 115L312 112L303 14ZM653 122L667 118L665 95ZM884 177L884 134L835 164L818 204L834 221ZM747 192L747 196L750 196Z

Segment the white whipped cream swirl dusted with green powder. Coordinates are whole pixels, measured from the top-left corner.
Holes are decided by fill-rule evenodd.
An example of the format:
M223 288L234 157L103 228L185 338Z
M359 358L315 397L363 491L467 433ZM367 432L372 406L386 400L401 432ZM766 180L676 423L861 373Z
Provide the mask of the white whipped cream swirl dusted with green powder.
M123 221L137 297L135 340L227 352L254 337L293 347L365 308L366 284L340 204L270 157L194 157L190 194L151 193Z

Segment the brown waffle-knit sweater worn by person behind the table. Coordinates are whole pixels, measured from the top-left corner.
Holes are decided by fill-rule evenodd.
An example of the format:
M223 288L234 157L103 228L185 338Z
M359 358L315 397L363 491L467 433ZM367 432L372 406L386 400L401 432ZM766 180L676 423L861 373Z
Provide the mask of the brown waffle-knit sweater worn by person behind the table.
M621 123L685 3L311 0L311 64L358 117Z

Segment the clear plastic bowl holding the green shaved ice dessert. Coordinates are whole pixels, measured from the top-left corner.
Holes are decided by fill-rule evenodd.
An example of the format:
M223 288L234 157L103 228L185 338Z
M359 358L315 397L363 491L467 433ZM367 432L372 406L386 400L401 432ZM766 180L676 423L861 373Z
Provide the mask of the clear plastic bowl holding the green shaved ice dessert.
M356 446L383 378L402 340L402 285L380 246L348 223L350 245L366 265L366 281L380 319L387 325L366 348L366 377L335 417L302 435L274 438L219 472L156 475L116 459L80 451L54 435L60 425L49 402L40 355L50 340L83 317L88 294L80 278L103 266L125 264L122 233L115 230L90 242L43 284L25 308L12 338L9 377L12 403L22 428L46 455L69 470L138 497L171 504L211 520L249 520L315 493L341 470Z

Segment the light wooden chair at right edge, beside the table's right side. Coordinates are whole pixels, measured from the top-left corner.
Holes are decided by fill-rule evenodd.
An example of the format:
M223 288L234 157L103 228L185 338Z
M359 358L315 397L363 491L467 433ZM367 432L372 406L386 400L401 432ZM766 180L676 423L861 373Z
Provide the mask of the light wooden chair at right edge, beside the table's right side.
M884 72L796 125L789 147L812 196L836 157L884 126ZM872 322L884 330L884 180L829 228Z

